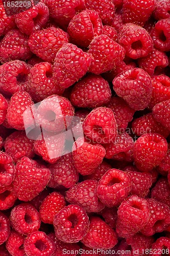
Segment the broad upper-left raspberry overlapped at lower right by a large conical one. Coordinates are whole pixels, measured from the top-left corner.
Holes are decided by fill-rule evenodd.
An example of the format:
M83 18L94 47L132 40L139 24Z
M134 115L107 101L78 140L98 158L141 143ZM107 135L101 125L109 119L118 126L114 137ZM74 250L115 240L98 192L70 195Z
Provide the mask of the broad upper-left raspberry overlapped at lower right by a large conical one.
M30 35L28 45L31 51L44 61L53 62L59 49L69 41L62 29L50 27Z

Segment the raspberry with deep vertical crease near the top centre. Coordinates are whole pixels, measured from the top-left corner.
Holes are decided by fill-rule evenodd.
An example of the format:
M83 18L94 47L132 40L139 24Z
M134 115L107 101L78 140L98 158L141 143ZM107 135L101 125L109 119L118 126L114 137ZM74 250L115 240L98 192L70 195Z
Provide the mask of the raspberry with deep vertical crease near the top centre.
M75 45L88 47L95 36L103 33L102 20L98 12L85 10L71 19L67 31Z

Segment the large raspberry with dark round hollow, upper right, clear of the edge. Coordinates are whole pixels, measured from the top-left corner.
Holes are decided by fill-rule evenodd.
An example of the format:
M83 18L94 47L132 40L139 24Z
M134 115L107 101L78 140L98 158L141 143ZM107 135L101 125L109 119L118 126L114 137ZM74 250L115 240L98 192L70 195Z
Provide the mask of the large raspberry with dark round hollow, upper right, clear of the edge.
M118 42L125 48L126 55L132 59L145 57L153 50L149 33L132 23L127 23L119 29Z

